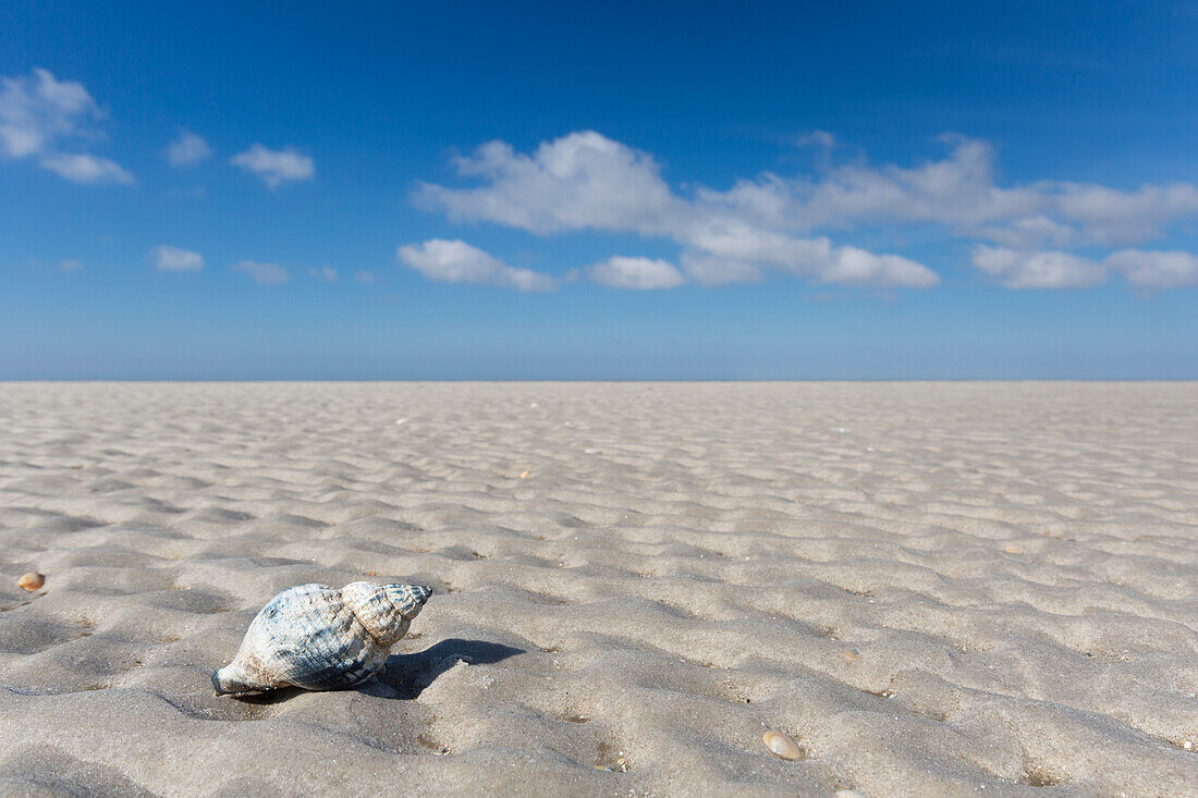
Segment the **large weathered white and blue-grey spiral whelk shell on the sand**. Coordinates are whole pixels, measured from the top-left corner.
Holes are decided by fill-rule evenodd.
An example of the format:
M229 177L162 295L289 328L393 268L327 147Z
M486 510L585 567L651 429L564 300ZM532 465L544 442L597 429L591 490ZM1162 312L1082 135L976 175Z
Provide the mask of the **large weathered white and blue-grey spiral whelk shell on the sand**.
M254 616L232 661L212 675L212 687L217 693L338 690L365 682L382 670L430 596L431 587L375 582L285 590Z

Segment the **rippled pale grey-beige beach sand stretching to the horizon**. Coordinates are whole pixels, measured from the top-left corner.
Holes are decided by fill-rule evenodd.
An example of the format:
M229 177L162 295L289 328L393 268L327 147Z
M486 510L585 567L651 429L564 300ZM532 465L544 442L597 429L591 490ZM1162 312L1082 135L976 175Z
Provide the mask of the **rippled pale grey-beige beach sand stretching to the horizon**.
M1198 786L1196 383L8 383L0 423L4 794ZM436 590L381 678L213 694L274 593L370 572Z

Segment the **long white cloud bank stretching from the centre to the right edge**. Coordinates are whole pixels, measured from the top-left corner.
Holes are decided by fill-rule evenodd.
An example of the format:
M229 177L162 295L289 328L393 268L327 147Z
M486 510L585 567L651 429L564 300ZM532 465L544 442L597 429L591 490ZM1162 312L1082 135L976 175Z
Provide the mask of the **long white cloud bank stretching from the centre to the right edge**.
M485 144L455 161L473 186L425 183L413 199L454 220L537 235L598 230L668 238L680 247L682 271L704 284L758 280L775 271L812 283L931 288L939 277L925 265L828 236L938 225L958 238L987 242L973 249L972 261L1004 285L1081 288L1118 267L1064 250L1140 243L1198 216L1192 183L1130 191L1066 181L1003 186L988 143L942 140L946 155L916 165L853 163L815 176L763 173L725 191L700 186L680 194L653 156L583 131L530 153L503 141ZM836 140L816 131L799 144L828 150ZM1176 254L1136 262L1150 266L1118 271L1133 283L1187 284L1187 261Z

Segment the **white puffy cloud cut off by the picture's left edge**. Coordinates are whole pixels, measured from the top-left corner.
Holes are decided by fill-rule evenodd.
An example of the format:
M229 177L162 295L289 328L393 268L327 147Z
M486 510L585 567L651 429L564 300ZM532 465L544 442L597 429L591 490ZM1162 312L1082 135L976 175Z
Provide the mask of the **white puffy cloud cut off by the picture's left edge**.
M104 114L83 84L48 69L0 78L0 156L36 158L43 169L79 183L132 183L120 164L66 149L103 138Z

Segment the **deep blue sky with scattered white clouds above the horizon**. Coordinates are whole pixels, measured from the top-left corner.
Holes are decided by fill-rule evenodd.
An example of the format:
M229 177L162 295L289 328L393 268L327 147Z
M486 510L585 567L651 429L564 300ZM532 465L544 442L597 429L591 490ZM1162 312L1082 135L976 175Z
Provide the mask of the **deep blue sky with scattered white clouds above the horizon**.
M1198 379L1192 6L743 5L4 4L0 379Z

